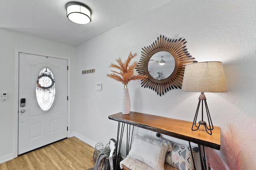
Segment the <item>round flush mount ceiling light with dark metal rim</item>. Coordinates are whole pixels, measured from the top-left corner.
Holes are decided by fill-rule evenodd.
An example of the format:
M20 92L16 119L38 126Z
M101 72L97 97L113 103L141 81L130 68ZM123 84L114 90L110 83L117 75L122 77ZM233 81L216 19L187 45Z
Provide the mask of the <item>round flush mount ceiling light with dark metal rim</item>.
M79 2L70 2L66 5L67 17L78 24L86 24L92 21L90 8Z

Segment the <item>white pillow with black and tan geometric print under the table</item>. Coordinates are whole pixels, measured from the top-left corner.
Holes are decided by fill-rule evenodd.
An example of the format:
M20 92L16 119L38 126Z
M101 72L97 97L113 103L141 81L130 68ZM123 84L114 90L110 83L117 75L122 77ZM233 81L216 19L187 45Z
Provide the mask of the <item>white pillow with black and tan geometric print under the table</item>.
M194 170L192 154L189 146L172 143L172 152L166 155L166 163L179 170Z

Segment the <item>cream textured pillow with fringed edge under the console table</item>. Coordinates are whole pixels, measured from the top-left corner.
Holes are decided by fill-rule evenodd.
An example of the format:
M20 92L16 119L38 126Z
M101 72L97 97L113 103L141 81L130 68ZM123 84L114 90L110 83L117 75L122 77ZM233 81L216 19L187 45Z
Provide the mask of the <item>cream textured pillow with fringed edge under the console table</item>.
M168 145L159 141L135 135L128 155L144 162L155 170L164 170Z

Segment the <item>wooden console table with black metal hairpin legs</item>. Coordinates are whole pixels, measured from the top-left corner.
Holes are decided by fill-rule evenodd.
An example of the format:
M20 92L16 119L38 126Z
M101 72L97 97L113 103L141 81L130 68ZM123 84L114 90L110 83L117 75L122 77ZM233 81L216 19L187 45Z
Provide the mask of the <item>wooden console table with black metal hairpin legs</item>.
M156 115L149 115L144 113L137 113L134 111L130 111L130 114L124 115L122 113L116 113L114 115L109 115L109 119L118 121L118 133L117 133L117 150L116 153L120 154L120 148L122 144L122 136L124 132L124 126L127 125L127 149L126 152L128 153L129 145L132 141L133 135L133 127L141 127L144 129L148 129L150 131L154 131L157 133L161 133L164 135L168 135L171 137L175 137L178 139L182 139L185 141L196 143L198 144L198 148L201 152L202 156L200 156L200 162L202 166L202 170L206 169L206 158L204 155L204 146L210 147L213 149L220 150L220 127L214 126L212 130L212 135L206 133L205 129L198 129L197 131L192 131L191 127L193 122L190 121L183 121L179 119L172 119L168 117L161 117ZM122 123L122 125L120 124ZM128 132L128 125L132 125L132 132ZM121 128L120 128L121 127ZM117 157L118 158L118 157ZM116 161L118 162L118 161ZM116 164L116 168L117 168Z

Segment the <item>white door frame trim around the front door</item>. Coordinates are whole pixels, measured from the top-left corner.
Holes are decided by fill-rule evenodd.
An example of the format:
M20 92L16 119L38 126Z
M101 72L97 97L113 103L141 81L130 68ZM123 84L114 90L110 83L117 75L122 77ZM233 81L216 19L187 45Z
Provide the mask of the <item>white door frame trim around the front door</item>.
M37 53L34 51L26 51L14 49L14 141L13 141L13 158L18 157L18 109L19 109L19 53L28 53L33 55L42 55L57 59L68 60L68 96L70 98L70 58L50 55L45 53ZM68 138L70 137L70 100L68 100Z

